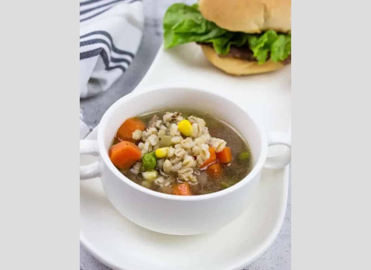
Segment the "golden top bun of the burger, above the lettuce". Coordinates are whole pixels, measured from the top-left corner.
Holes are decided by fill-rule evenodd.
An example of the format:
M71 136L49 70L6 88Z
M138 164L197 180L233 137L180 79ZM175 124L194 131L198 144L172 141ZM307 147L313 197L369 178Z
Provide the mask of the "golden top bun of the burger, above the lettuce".
M229 31L291 31L291 0L199 0L203 16Z

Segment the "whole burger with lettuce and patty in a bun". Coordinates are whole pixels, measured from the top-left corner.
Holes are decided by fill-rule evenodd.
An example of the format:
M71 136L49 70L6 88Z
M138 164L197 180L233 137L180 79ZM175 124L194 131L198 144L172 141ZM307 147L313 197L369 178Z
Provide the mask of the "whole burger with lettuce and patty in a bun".
M291 63L291 0L199 0L164 16L165 49L196 42L206 58L233 75Z

